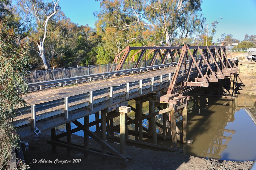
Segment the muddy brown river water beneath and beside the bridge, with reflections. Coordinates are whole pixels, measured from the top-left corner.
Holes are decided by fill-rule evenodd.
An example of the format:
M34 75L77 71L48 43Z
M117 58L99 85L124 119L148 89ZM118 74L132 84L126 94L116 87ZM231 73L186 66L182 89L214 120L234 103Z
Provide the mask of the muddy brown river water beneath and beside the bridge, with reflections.
M256 160L256 97L239 95L235 100L212 98L207 96L190 97L187 117L187 139L193 140L193 144L181 144L178 147L188 155L215 158L221 160L247 161ZM135 101L129 101L135 107ZM158 111L157 108L155 108ZM143 113L148 114L148 102L143 103ZM129 113L135 118L135 113ZM162 115L155 117L156 121L163 123ZM90 122L94 121L94 115L90 115ZM83 123L83 119L79 120ZM114 119L114 125L119 124L119 118ZM177 127L182 130L182 116L176 119ZM71 128L76 128L71 124ZM148 128L148 121L143 121L143 126ZM134 124L129 129L134 130ZM65 126L60 127L65 131ZM90 127L95 131L95 126ZM157 129L157 133L162 133ZM75 134L83 136L83 131ZM118 133L115 133L118 135ZM168 134L167 134L168 135ZM169 134L170 135L170 134ZM129 135L130 139L134 136ZM171 140L157 139L158 144L172 146ZM146 139L145 142L152 142Z

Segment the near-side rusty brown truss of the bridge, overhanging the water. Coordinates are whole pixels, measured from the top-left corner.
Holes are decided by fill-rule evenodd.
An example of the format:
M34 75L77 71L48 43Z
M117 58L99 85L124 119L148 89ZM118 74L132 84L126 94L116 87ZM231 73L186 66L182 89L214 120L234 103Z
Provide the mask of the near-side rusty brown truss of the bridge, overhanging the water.
M201 54L196 61L196 54ZM228 55L227 55L228 53ZM230 59L228 58L230 57ZM189 64L184 64L185 58L189 58ZM180 71L183 70L183 82L177 85ZM193 70L193 71L192 71ZM225 46L183 46L180 58L176 65L167 94L160 97L160 101L170 104L182 103L183 94L196 87L209 87L210 82L218 82L227 76L237 74L237 68L231 54Z

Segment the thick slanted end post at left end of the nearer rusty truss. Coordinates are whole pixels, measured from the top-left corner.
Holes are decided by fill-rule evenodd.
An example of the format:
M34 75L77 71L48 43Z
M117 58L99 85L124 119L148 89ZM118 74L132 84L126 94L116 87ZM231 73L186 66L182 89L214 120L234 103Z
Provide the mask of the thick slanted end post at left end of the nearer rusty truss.
M179 58L179 60L178 60L178 63L177 63L177 65L176 65L176 68L175 68L175 71L174 71L172 80L171 80L171 82L170 82L170 86L169 86L169 88L168 88L167 94L172 94L172 90L174 89L174 86L175 86L176 83L177 83L178 76L179 76L179 72L180 72L180 69L181 69L181 67L182 67L183 58L184 58L184 56L185 56L186 50L187 50L186 46L183 46L183 47L182 47L182 52L181 52L180 58Z

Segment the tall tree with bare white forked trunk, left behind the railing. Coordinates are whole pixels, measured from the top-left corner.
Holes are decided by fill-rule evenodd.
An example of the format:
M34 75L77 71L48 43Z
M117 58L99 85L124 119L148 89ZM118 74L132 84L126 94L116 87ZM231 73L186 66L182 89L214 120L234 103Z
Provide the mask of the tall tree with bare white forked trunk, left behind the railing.
M44 0L20 0L18 4L24 12L34 17L33 36L29 37L37 44L37 53L42 59L45 69L50 69L49 61L51 56L45 55L45 41L48 32L48 22L57 13L59 0L52 0L52 3Z

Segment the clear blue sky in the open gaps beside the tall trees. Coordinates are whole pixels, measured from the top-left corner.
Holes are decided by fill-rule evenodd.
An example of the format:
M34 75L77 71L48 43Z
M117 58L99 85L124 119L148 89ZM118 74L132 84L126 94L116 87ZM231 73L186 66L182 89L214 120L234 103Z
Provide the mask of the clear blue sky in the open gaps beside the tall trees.
M94 0L60 0L61 9L72 22L94 27L96 18L93 12L100 9L100 2ZM206 24L219 22L214 41L222 33L232 34L234 38L244 39L244 35L256 35L256 0L203 0L202 13Z

